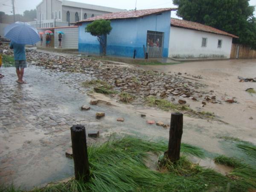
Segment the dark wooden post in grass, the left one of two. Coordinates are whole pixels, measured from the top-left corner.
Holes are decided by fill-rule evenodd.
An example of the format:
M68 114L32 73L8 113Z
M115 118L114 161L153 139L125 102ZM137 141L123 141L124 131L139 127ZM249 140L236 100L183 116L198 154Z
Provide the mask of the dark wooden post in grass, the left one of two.
M90 169L87 156L86 132L83 125L73 125L71 128L71 140L76 180L89 180Z

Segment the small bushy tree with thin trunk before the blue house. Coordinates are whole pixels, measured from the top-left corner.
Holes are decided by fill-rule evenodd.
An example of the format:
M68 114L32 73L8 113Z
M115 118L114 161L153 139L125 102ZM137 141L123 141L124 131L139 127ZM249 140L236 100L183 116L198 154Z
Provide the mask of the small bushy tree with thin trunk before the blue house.
M110 20L94 20L85 27L85 32L97 37L97 40L102 45L103 55L107 53L107 35L110 34L111 30Z

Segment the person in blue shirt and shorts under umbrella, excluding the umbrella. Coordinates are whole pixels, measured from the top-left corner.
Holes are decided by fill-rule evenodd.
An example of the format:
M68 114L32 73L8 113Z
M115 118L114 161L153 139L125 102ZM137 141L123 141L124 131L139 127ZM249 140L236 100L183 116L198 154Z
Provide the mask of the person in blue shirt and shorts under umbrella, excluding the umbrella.
M26 52L24 44L16 44L11 41L10 49L13 49L16 73L18 76L17 83L24 84L23 81L24 68L26 68Z

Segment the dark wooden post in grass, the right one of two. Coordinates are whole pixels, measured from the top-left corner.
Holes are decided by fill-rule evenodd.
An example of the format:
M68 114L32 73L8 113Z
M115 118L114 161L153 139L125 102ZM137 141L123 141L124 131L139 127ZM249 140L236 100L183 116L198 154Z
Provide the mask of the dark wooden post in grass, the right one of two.
M183 114L172 113L171 126L169 131L169 145L167 157L170 161L175 162L180 159L180 143L183 133Z

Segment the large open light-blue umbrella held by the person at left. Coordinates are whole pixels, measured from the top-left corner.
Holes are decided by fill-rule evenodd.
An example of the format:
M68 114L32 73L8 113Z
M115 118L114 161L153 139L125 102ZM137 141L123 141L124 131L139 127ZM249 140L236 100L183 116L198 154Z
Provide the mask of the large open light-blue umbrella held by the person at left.
M40 41L37 29L28 23L15 22L4 28L4 36L17 44L34 45Z

